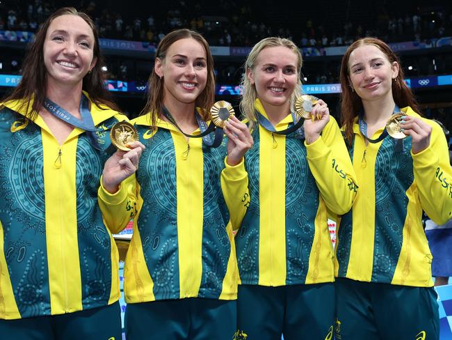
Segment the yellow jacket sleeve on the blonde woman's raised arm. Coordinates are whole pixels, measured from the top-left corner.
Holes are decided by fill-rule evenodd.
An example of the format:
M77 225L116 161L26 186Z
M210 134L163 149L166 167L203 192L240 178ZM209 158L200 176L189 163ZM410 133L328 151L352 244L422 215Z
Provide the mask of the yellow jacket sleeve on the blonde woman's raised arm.
M305 146L309 169L328 209L337 215L344 215L353 206L358 186L336 120L330 116L321 137L312 144L305 142Z

